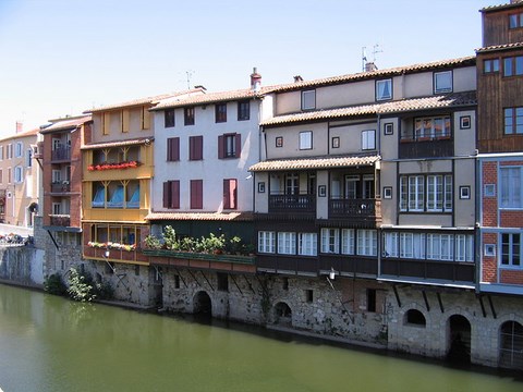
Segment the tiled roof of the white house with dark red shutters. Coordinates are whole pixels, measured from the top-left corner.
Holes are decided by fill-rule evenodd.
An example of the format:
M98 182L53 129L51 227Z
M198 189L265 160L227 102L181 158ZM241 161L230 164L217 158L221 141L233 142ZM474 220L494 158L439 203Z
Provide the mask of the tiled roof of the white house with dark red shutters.
M267 88L268 87L266 87L265 89L262 88L259 93L255 93L251 88L244 88L244 89L230 90L230 91L192 95L183 98L171 97L171 98L160 100L158 105L151 108L150 110L165 110L169 108L180 108L180 107L187 107L193 105L223 102L223 101L239 100L239 99L254 99L256 97L264 95L264 90L267 90Z

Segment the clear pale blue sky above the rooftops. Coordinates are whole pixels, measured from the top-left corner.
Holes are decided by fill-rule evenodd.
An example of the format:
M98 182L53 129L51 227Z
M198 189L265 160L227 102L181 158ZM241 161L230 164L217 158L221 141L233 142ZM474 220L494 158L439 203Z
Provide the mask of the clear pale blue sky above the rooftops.
M221 91L473 56L509 0L0 0L0 137L202 84Z

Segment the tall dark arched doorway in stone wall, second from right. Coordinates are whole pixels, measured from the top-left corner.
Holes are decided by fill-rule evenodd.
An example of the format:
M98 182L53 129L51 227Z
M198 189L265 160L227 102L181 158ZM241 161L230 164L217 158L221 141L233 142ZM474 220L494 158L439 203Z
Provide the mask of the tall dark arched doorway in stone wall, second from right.
M471 363L471 323L461 315L450 316L448 321L447 359L458 364Z

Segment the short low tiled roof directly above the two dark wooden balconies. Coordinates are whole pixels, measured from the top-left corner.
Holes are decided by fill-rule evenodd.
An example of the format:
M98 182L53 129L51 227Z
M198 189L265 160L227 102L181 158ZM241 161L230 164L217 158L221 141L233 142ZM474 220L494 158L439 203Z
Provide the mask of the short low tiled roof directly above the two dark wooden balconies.
M248 171L281 171L304 169L330 169L354 166L373 166L380 159L379 156L336 156L314 157L300 159L279 159L258 162L248 168Z

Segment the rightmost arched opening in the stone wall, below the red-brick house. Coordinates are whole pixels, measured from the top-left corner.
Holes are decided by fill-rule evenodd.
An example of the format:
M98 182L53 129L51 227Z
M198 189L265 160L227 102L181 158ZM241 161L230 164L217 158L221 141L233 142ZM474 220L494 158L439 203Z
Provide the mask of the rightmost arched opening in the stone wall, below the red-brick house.
M523 326L506 321L499 330L499 366L523 369Z

